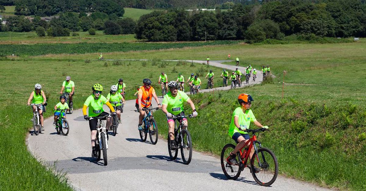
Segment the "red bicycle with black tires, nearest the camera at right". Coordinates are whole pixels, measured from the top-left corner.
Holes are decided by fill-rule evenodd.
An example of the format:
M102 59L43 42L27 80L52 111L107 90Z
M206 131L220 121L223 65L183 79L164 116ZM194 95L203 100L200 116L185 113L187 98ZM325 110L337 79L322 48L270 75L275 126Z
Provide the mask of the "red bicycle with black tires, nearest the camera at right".
M249 148L245 148L243 151L243 148L246 147L246 145L244 145L243 148L241 148L239 152L236 153L235 159L237 163L235 164L230 162L230 153L235 149L235 145L227 144L224 146L223 150L221 151L221 168L228 179L237 179L240 175L240 172L243 171L245 167L248 167L250 168L255 182L257 182L259 185L270 186L273 182L275 182L278 175L277 158L271 150L262 147L261 142L257 141L257 137L255 136L255 133L266 130L268 129L260 128L245 130L247 132L251 132L253 136L246 144L249 144ZM247 161L252 148L254 148L254 154L251 157L250 166L248 166ZM255 171L255 168L259 168L260 170ZM269 180L264 180L266 177L269 177Z

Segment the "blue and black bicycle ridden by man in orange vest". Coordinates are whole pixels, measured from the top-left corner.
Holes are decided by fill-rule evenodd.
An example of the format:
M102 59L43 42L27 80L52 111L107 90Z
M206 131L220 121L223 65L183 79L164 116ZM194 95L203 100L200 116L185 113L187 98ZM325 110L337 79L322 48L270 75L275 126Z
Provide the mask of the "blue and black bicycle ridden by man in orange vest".
M140 138L142 142L146 141L147 133L149 133L150 141L153 145L155 145L158 142L158 126L156 125L156 121L154 119L154 116L152 114L153 110L158 110L159 108L146 108L142 109L146 112L145 118L142 119L142 130L139 130Z

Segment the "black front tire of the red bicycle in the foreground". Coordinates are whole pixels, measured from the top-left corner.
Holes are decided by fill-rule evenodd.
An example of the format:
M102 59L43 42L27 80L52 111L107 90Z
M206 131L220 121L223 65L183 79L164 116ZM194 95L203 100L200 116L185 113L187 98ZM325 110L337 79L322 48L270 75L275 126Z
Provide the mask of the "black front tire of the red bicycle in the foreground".
M268 159L268 157L265 157L265 152L267 152L269 154L270 157L272 157L273 159L273 164L274 165L274 168L270 169L270 164L269 163L272 163L269 162L268 160L266 160L266 158ZM259 171L258 173L256 173L254 171L254 167L259 167L258 164L254 165L254 160L256 159L256 161L260 161L261 159L263 161L261 161L262 163L262 167L260 167L262 169L262 171ZM251 173L253 175L253 178L255 180L255 182L257 182L259 185L261 186L270 186L271 184L273 184L277 178L277 175L278 175L278 161L277 161L277 157L276 155L272 152L272 150L269 150L268 148L259 148L258 149L258 154L254 154L253 157L251 158L250 160L250 167L251 167ZM270 171L273 171L273 172L270 172ZM270 176L272 176L272 178L270 178L270 180L268 182L265 182L264 180L259 180L259 177L264 177L263 174L270 174ZM272 175L273 174L273 175Z

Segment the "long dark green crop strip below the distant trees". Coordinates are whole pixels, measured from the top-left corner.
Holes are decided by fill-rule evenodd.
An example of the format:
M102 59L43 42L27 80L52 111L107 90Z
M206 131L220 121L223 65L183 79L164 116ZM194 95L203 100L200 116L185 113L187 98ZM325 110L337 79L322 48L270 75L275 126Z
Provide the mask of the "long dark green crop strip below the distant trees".
M106 53L116 51L141 51L158 49L175 49L183 47L213 46L237 44L240 41L208 41L183 43L74 43L74 44L35 44L35 45L1 45L1 56L38 56L44 54L84 54Z

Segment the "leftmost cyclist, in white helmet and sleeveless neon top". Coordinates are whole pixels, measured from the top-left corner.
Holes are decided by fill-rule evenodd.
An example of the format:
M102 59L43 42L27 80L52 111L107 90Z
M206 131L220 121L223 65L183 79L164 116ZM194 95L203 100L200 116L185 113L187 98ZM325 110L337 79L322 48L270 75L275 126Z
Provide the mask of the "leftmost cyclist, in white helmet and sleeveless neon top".
M46 95L45 92L43 92L41 84L34 85L34 91L30 93L30 96L28 98L27 105L30 105L30 101L32 100L32 104L42 104L42 106L33 106L33 112L38 110L38 113L40 115L40 122L41 122L41 130L44 131L43 127L43 110L45 110L44 104L46 103Z

